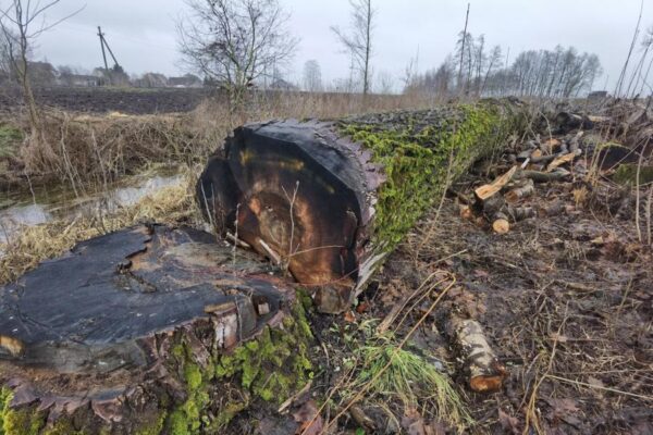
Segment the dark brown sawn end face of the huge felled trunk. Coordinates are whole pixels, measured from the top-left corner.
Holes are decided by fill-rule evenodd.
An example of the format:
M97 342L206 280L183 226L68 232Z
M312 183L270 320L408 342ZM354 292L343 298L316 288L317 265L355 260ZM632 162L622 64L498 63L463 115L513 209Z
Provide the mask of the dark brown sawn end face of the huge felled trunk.
M369 221L368 182L356 146L329 124L252 124L226 139L197 187L198 203L219 232L237 234L303 285L318 306L350 303L360 240Z

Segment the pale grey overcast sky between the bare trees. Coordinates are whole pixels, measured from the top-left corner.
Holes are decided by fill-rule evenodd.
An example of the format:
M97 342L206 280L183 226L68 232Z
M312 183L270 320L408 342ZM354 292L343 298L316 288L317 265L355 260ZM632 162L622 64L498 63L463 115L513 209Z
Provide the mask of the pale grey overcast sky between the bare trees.
M0 0L4 3L7 0ZM347 0L280 0L292 14L289 30L300 38L288 76L301 79L304 62L319 61L324 82L347 76L347 57L330 32L349 23ZM419 49L419 70L440 64L453 50L465 24L467 0L372 0L378 10L373 35L375 73L399 82ZM119 62L130 73L185 73L176 48L175 22L183 0L62 0L48 20L81 7L77 15L38 41L39 59L54 65L91 70L102 63L97 26L101 25ZM626 58L640 0L472 0L469 32L485 35L489 46L513 54L527 49L575 46L599 54L605 70L594 87L608 89ZM653 1L644 0L642 27L653 26Z

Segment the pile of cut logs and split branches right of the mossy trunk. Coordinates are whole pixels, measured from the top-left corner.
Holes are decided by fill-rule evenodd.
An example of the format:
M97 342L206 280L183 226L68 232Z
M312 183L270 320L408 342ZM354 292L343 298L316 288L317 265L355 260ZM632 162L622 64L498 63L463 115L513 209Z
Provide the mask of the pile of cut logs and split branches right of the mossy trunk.
M534 194L535 183L571 178L574 161L583 154L582 136L579 130L562 138L542 140L538 135L528 140L523 150L507 154L513 163L507 172L475 189L475 200L461 208L461 216L480 224L489 222L497 234L508 233L512 223L537 216L538 210L520 206L521 201Z

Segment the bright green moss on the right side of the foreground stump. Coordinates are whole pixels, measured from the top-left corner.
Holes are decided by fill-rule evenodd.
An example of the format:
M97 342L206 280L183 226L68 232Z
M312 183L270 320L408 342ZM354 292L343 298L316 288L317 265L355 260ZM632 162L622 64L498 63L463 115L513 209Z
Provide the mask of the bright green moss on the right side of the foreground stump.
M229 355L218 356L206 368L193 362L186 346L173 347L172 353L183 371L187 399L168 417L168 432L220 433L254 398L274 403L287 399L311 376L308 358L311 339L304 306L297 301L292 315L283 320L283 327L266 326L256 339ZM231 395L234 390L238 394Z

